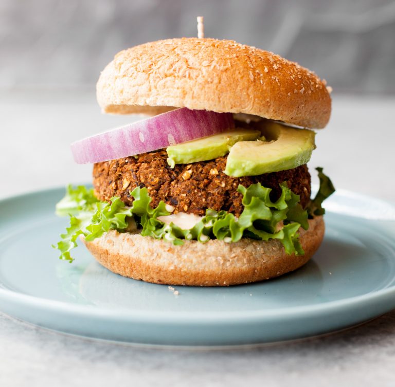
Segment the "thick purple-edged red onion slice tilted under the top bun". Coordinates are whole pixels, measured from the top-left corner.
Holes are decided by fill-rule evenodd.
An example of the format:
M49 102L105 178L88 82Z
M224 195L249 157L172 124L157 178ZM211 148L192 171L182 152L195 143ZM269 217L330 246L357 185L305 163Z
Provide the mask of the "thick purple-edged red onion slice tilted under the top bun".
M71 152L79 164L114 160L211 136L234 127L230 113L182 107L76 141L71 144Z

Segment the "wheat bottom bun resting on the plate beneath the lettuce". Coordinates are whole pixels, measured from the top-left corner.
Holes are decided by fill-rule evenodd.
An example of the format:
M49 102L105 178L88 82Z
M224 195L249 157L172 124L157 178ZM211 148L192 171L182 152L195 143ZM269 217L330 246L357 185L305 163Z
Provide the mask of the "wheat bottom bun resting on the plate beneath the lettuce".
M101 265L124 277L167 285L228 286L268 280L306 264L325 231L322 216L309 220L309 225L307 231L299 229L304 255L286 254L277 239L242 238L234 243L210 239L174 246L115 230L84 243Z

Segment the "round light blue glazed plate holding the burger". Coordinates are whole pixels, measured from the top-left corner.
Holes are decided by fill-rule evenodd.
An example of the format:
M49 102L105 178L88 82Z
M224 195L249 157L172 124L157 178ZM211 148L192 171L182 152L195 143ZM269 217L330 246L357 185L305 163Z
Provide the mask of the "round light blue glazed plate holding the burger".
M314 336L395 308L395 209L337 192L314 259L281 278L227 288L122 278L84 247L72 264L51 244L67 219L53 214L64 190L0 201L0 309L50 329L165 345L238 345Z

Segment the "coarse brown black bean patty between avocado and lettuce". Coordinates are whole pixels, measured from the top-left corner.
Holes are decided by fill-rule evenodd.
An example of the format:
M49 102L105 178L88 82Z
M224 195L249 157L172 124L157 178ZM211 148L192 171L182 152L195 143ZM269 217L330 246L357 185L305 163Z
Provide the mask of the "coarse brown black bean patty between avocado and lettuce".
M288 187L300 195L306 207L310 200L310 173L307 165L281 172L258 176L231 177L223 173L226 156L215 160L176 164L170 168L165 150L144 153L135 157L96 163L93 167L93 185L100 200L120 196L131 205L130 192L136 187L146 187L155 207L160 200L175 208L175 212L204 215L206 209L225 210L236 216L243 211L242 195L237 192L239 184L244 187L260 182L271 188L271 199L281 194L279 183L286 181Z

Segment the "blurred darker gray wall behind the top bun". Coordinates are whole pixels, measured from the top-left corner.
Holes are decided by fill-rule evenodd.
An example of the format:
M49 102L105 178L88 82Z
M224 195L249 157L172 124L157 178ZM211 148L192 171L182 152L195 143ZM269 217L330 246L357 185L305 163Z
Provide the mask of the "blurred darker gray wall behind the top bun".
M0 88L93 88L116 52L196 35L314 69L336 93L395 94L391 0L0 0Z

